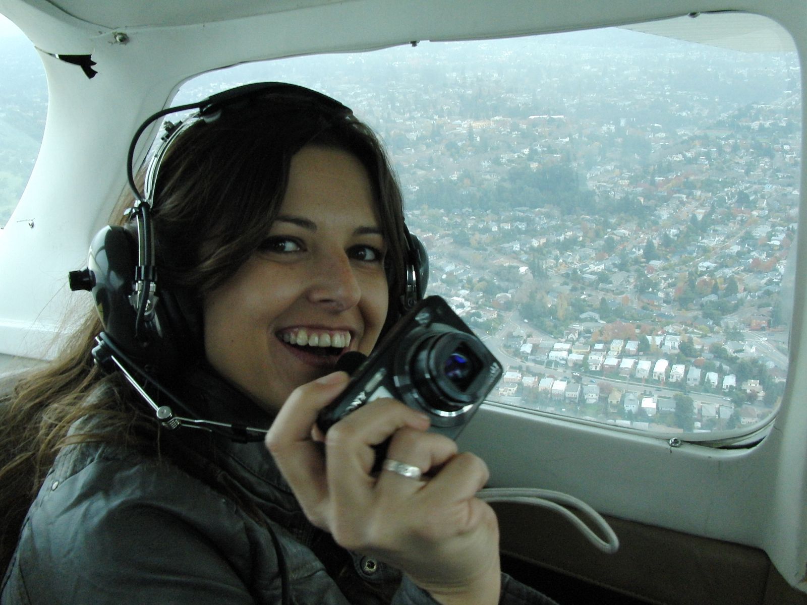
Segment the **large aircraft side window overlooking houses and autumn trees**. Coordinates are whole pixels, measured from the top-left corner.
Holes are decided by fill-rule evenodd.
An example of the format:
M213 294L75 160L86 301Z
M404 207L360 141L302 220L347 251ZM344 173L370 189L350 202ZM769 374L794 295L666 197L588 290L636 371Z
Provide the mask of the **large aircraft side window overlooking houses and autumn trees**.
M675 38L609 28L240 65L177 100L293 81L375 127L429 294L507 369L493 402L747 434L787 379L800 66L779 42L684 41L698 19L670 22Z

